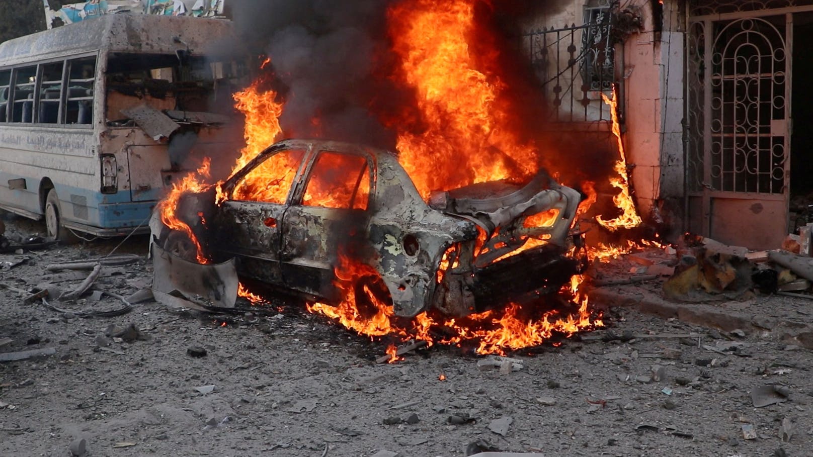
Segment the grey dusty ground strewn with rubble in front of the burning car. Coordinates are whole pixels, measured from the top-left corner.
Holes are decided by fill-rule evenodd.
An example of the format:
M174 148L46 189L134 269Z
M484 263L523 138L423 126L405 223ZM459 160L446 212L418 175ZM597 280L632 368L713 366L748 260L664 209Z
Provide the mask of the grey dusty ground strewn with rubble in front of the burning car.
M20 220L9 225L21 233L43 229ZM119 242L0 255L0 283L29 289L46 281L48 264L105 256ZM146 237L116 250L145 252ZM3 266L22 258L28 261ZM141 259L97 286L130 294L150 274ZM608 330L598 330L533 355L516 353L523 368L501 374L481 371L480 358L456 348L376 365L381 343L302 313L296 303L279 305L287 305L284 312L228 317L225 326L155 302L124 316L81 318L0 289L0 341L14 340L0 354L55 349L40 359L0 362L0 455L69 456L79 437L93 456L368 456L383 449L459 456L478 440L548 456L813 455L811 353L767 329L740 337L614 308L609 330L628 341L602 341ZM60 306L105 310L120 303L85 298ZM808 302L780 298L750 306L790 321L809 320L813 311ZM110 325L129 324L140 338L98 347ZM688 333L698 336L669 335ZM207 355L188 355L191 346ZM214 390L195 390L206 385ZM786 386L789 398L755 408L750 392L759 385ZM412 413L415 424L385 424ZM466 415L472 423L449 423ZM505 418L511 423L504 436L489 429ZM780 437L783 420L789 442ZM748 425L754 439L743 435Z

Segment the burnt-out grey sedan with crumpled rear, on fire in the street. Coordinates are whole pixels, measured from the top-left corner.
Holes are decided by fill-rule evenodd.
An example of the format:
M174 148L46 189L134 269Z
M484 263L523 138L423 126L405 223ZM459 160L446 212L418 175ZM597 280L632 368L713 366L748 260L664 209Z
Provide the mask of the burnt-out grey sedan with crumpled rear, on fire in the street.
M397 316L467 316L558 291L583 266L581 194L544 173L421 198L398 156L338 141L285 140L219 187L186 193L176 217L213 262L310 299L341 300L342 259L367 266L355 290ZM151 240L184 259L197 246L163 224ZM338 278L346 279L346 278Z

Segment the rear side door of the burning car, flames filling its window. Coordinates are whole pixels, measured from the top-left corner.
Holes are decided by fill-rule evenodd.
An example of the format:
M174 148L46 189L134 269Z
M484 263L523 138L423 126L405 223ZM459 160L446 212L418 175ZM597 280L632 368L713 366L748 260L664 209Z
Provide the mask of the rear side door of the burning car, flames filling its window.
M315 155L283 219L280 261L286 285L337 298L338 256L363 255L366 246L372 163L360 153L320 150Z

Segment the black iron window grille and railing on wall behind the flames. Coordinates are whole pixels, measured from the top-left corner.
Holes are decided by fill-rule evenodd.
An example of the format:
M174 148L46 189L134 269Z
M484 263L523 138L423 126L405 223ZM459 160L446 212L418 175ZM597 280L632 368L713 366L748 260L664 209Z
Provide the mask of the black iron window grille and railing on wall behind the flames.
M611 16L609 6L585 7L585 24L551 26L523 34L523 48L533 70L546 94L553 94L551 121L595 121L589 116L591 105L598 105L598 121L612 121L601 95L590 98L591 93L611 91L615 83ZM579 80L582 85L574 87ZM547 89L551 83L554 86Z

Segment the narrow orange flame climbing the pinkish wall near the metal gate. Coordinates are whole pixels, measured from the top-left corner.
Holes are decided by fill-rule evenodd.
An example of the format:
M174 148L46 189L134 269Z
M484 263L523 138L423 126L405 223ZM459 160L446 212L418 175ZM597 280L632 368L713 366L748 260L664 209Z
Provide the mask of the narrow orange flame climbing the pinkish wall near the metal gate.
M616 207L619 207L621 215L611 220L603 220L601 216L596 217L598 224L611 231L619 228L634 228L641 225L641 217L635 210L635 202L633 197L629 194L629 176L627 173L627 155L624 154L624 141L621 141L621 126L618 120L618 96L615 91L615 86L612 89L612 98L608 98L602 93L602 99L610 106L610 114L612 119L612 133L618 140L618 153L620 159L615 162L615 172L618 176L610 178L610 184L616 189L620 189L620 193L613 197L612 201Z

